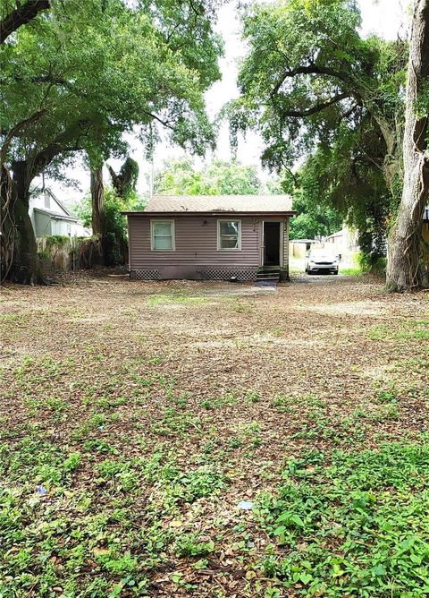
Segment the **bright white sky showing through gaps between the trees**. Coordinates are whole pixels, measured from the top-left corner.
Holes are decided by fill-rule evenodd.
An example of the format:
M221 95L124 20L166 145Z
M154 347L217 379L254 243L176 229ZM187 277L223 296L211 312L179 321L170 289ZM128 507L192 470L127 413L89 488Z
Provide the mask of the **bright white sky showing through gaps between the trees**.
M386 39L396 38L400 34L401 38L407 36L407 0L358 0L362 13L362 34L364 36L376 33ZM239 69L240 59L246 54L246 47L240 39L240 21L238 19L236 3L229 2L221 7L216 24L218 30L223 36L225 42L225 53L220 61L222 80L217 81L206 92L206 107L208 114L214 118L220 109L229 100L239 96L239 90L236 85L236 78ZM144 158L144 148L142 144L128 138L130 142L130 156L139 163L139 184L138 191L148 192L150 190L151 172L153 166L162 167L165 159L182 158L187 154L183 149L172 147L167 141L163 141L156 147L153 166ZM263 150L263 143L256 133L248 133L246 139L241 139L237 150L237 158L246 165L257 166L261 178L266 180L269 174L264 172L260 165L260 155ZM214 152L207 152L206 161L213 158L229 159L231 158L231 149L229 144L229 134L227 124L223 124ZM196 159L196 167L201 166L201 160ZM109 164L114 169L121 167L121 160L109 160ZM74 179L79 189L66 187L46 179L46 185L50 186L55 194L68 203L80 201L81 197L88 192L89 173L77 161L74 167L68 168L66 175ZM107 171L105 171L105 183L109 182Z

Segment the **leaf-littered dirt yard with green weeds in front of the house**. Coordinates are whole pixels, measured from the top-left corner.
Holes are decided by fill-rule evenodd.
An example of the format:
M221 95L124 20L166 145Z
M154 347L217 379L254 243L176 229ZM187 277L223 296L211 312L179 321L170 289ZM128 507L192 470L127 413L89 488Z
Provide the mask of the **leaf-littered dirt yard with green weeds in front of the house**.
M429 595L429 294L0 295L0 596Z

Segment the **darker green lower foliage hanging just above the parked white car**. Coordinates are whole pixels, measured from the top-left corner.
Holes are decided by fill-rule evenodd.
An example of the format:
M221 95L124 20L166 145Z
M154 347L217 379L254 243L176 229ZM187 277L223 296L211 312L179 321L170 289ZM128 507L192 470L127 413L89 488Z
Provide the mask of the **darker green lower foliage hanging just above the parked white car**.
M371 263L383 255L391 193L383 175L383 142L369 123L355 130L341 125L330 144L320 143L307 158L299 183L309 213L323 210L337 226L342 220L357 229L361 251Z

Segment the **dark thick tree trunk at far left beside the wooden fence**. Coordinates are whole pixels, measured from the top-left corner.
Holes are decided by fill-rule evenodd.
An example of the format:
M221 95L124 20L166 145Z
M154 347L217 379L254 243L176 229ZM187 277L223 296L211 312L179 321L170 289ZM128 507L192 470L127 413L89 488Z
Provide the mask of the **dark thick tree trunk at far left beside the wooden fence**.
M43 285L46 278L42 275L38 248L33 226L29 219L29 183L27 162L24 160L13 162L12 171L12 209L9 224L14 227L13 257L8 278L22 285ZM2 203L3 203L2 198ZM10 232L10 231L8 231Z

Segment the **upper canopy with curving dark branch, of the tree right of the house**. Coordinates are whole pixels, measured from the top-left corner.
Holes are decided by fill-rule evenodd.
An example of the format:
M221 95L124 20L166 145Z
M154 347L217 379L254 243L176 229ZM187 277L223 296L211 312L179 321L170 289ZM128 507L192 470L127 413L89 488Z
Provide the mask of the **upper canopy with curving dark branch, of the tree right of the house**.
M318 142L329 143L340 124L354 129L363 118L394 157L391 124L403 110L405 44L360 38L352 0L254 4L243 26L249 50L241 96L229 108L231 126L257 127L269 166L289 166Z

